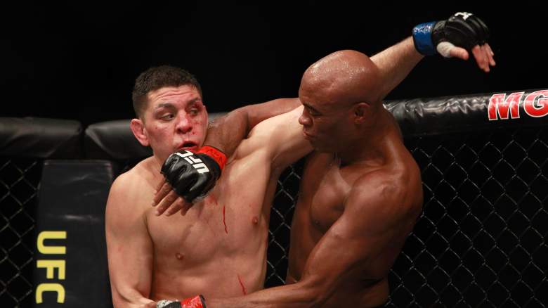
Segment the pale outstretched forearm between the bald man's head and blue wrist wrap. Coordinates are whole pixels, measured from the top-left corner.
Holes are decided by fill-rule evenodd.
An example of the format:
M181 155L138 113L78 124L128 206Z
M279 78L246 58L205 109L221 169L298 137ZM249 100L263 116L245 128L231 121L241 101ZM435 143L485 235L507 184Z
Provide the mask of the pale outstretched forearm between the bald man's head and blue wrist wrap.
M412 37L407 37L398 44L372 56L371 60L381 71L383 86L381 99L384 99L390 91L396 88L422 58L424 56L415 49Z

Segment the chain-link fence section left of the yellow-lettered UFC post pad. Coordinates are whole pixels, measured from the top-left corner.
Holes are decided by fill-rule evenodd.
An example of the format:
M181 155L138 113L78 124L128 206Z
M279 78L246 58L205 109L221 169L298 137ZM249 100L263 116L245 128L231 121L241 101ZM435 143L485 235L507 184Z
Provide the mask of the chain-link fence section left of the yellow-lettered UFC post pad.
M0 307L30 307L41 161L0 158Z

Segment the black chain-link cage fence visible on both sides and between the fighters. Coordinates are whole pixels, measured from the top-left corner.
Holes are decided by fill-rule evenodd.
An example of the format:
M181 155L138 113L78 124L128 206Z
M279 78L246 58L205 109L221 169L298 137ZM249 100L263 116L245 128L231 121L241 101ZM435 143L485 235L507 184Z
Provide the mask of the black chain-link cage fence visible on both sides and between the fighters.
M389 307L545 307L548 129L406 140L422 169L424 213L390 273ZM303 162L280 177L270 216L266 286L287 272ZM0 160L0 306L32 300L41 163Z

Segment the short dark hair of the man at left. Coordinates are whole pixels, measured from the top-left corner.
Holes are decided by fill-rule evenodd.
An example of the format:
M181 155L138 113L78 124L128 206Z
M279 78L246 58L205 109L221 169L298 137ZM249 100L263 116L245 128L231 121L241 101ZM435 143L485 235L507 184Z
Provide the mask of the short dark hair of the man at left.
M160 65L145 70L135 79L135 85L131 93L135 115L137 117L143 115L147 104L148 92L161 89L164 86L183 86L185 84L195 86L200 96L202 96L202 87L196 77L182 68Z

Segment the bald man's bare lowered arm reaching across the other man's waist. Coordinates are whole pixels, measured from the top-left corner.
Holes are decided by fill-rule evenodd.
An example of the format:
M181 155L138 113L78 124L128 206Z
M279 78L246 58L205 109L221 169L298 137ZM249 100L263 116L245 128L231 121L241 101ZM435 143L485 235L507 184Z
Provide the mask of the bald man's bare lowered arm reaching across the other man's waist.
M405 206L403 190L384 179L386 174L371 174L358 180L344 213L312 250L300 281L243 297L206 299L207 307L321 307L344 281L386 276L393 258L383 253L400 250L420 208Z

